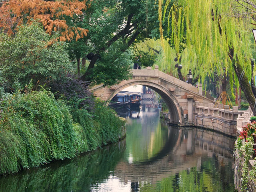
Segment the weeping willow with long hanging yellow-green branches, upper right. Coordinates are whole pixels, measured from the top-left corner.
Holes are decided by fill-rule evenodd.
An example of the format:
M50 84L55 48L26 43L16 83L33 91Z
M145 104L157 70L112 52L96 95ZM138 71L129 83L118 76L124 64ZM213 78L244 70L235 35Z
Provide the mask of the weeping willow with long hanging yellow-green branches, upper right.
M223 0L159 0L158 4L162 42L170 39L176 55L201 82L207 76L219 80L229 76L231 89L234 83L240 85L254 110L249 84L253 41L248 20L231 17L231 4Z

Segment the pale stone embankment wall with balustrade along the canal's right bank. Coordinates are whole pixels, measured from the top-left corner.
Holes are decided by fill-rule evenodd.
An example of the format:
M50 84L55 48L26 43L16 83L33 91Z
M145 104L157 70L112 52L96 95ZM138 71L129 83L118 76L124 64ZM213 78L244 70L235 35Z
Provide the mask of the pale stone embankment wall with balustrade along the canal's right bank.
M253 116L252 110L239 111L238 107L234 106L230 110L228 105L223 106L219 104L218 108L214 108L212 103L208 106L200 106L196 102L194 113L194 125L209 128L217 132L221 132L233 137L239 137L242 130L242 126L247 125L250 122L250 117ZM238 153L234 151L235 169L234 169L234 182L238 192L241 191L242 185L242 168L244 166L244 159ZM255 160L249 160L249 171L256 164ZM256 182L253 180L248 181L248 191L256 192Z

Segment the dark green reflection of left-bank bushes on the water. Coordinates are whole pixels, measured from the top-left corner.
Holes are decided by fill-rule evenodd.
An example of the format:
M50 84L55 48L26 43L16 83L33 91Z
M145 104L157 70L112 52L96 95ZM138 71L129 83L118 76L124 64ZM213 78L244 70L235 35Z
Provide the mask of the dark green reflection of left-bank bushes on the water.
M125 140L90 154L0 177L1 192L90 192L114 171Z

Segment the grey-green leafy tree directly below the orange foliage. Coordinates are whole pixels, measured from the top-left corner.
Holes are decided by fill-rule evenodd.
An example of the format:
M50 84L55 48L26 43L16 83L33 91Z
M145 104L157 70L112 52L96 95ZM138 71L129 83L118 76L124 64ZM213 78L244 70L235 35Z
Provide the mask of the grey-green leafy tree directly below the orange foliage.
M30 80L38 86L71 71L66 43L49 43L50 36L36 22L20 27L13 37L0 34L0 66L10 88L14 82L24 87Z

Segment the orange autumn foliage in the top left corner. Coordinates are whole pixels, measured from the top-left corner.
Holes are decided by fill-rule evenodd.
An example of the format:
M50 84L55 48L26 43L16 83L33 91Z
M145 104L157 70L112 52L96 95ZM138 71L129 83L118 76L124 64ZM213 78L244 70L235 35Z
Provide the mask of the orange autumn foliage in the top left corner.
M0 7L0 28L9 35L14 34L17 26L30 24L39 20L48 34L59 31L60 41L78 40L87 35L84 28L68 26L64 16L74 15L83 17L82 10L86 9L86 1L78 0L9 0Z

